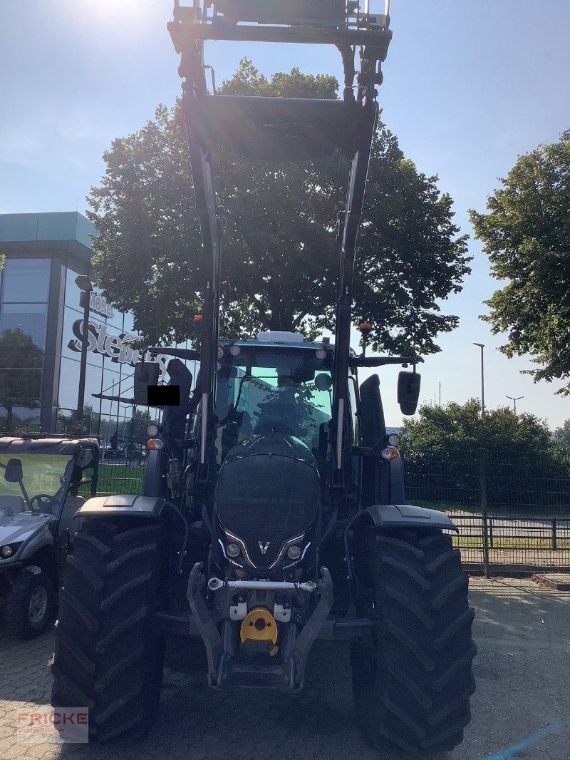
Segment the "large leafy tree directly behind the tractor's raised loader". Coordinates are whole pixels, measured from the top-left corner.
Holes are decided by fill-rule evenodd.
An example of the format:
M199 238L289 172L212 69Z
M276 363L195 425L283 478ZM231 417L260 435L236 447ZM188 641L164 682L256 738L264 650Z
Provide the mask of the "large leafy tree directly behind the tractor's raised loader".
M337 97L328 75L259 74L249 61L226 94ZM90 220L97 279L106 298L132 309L149 340L191 336L199 309L201 252L179 106L159 106L155 120L113 141L106 174L91 188ZM224 209L223 333L259 329L315 331L334 325L337 248L335 201L347 162L303 165L242 160L219 151L217 193ZM341 185L337 187L340 171ZM461 290L469 272L466 236L457 237L451 198L437 177L418 173L380 123L359 238L355 321L372 318L372 347L438 350L435 336L458 319L440 302Z

